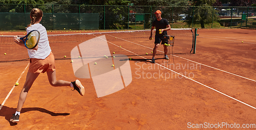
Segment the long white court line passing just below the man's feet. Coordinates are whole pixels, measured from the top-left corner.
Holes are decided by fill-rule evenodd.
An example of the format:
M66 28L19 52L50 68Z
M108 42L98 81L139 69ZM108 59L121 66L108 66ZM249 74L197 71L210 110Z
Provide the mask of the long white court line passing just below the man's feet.
M102 39L102 38L101 38L101 39ZM102 40L104 40L104 39L102 39ZM109 41L106 40L106 42L109 42ZM109 42L109 43L112 44L112 45L115 45L115 44L113 44L112 42ZM115 45L115 46L117 46L117 45ZM128 51L128 52L131 52L131 51L126 50L126 49L124 49L124 48L122 48L122 49L125 50L125 51ZM140 56L140 55L138 55L138 54L136 54L136 53L134 53L134 52L131 52L131 53L133 53L133 54L135 54L135 55L137 55L137 56ZM140 57L142 57L142 58L144 58L144 59L146 59L146 60L151 61L150 59L147 59L147 58L145 58L145 57L143 57L143 56L140 56ZM245 105L251 107L252 109L256 109L256 107L253 107L253 106L251 106L251 105L249 105L249 104L247 104L247 103L245 103L245 102L242 102L242 101L240 101L240 100L238 100L238 99L236 99L236 98L233 98L233 97L231 97L231 96L229 96L229 95L226 95L226 94L224 94L224 93L222 93L222 92L220 92L220 91L218 91L218 90L215 90L215 89L213 89L213 88L210 88L209 86L207 86L207 85L205 85L205 84L203 84L203 83L201 83L201 82L198 82L198 81L196 81L196 80L194 80L194 79L188 78L188 77L186 77L186 76L184 76L184 75L182 75L182 74L180 74L180 73L178 73L178 72L176 72L176 71L170 70L169 68L166 68L166 67L162 66L161 64L158 64L158 63L156 63L156 64L157 64L158 66L163 67L163 68L165 68L165 69L167 69L167 70L169 70L169 71L172 71L172 72L174 72L174 73L176 73L176 74L178 74L178 75L181 75L181 76L183 76L183 77L185 77L185 78L187 78L187 79L189 79L189 80L191 80L191 81L194 81L194 82L199 83L199 84L201 84L201 85L203 85L203 86L206 86L208 89L214 90L214 91L216 91L216 92L218 92L218 93L220 93L220 94L222 94L222 95L224 95L224 96L227 96L227 97L229 97L229 98L231 98L231 99L233 99L233 100L236 100L236 101L238 101L238 102L240 102L240 103L243 103L243 104L245 104Z

